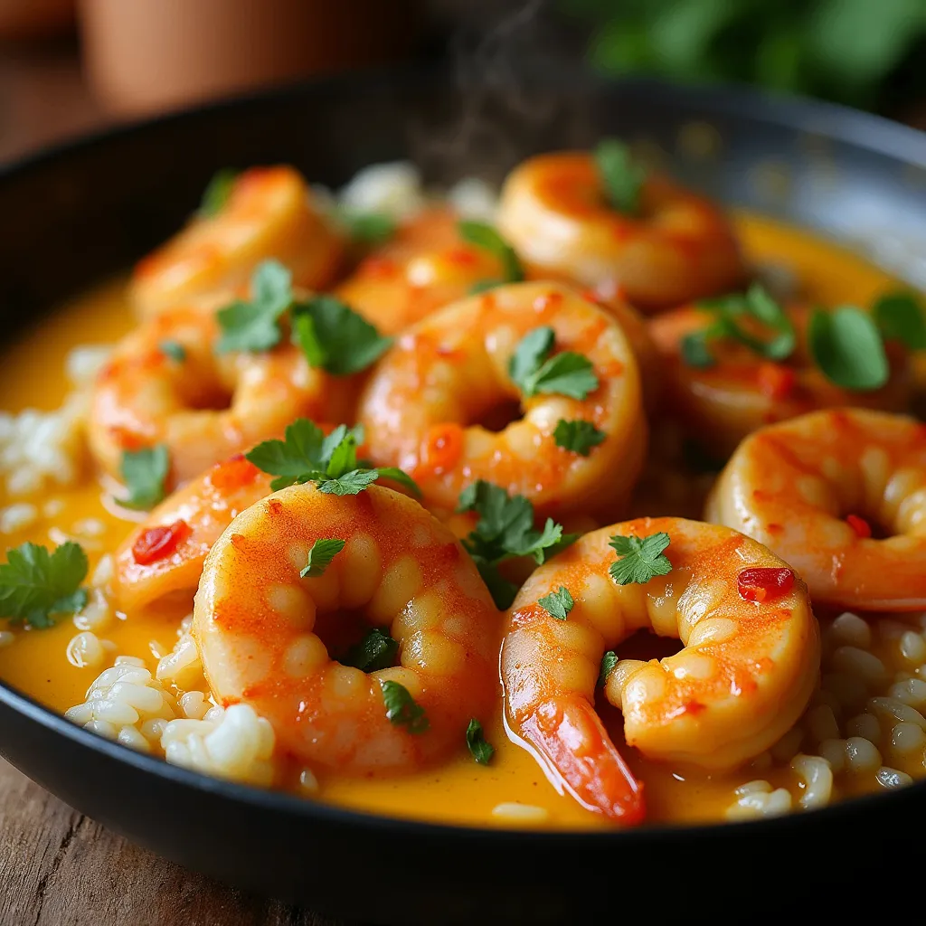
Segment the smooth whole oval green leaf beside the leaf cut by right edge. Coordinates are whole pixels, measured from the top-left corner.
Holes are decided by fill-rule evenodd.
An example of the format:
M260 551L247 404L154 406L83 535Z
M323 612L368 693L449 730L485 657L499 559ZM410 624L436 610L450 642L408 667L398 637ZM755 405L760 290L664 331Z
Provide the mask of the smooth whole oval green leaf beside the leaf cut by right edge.
M807 345L823 375L844 389L880 389L891 375L881 333L861 309L815 309L807 326Z

